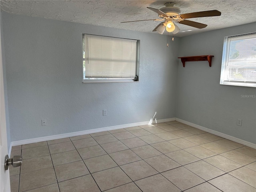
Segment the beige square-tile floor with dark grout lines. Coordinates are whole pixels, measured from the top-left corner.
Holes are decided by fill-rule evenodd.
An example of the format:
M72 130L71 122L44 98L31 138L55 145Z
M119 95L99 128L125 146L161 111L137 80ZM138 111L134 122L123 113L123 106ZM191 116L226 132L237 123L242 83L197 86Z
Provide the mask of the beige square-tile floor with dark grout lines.
M256 150L172 121L12 147L12 192L256 192Z

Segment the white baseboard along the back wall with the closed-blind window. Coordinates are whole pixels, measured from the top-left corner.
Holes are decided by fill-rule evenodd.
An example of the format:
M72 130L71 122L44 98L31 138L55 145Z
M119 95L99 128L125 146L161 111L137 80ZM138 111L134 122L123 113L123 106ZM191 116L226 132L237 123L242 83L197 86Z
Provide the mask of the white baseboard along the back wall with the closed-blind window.
M161 120L156 120L156 121L154 120L154 121L152 121L152 124L154 124L156 122L162 123L162 122L168 122L168 121L174 121L174 120L175 120L175 118L161 119ZM10 146L18 146L18 145L30 144L30 143L41 142L41 141L62 139L62 138L66 138L66 137L73 137L73 136L78 136L78 135L85 135L85 134L97 133L97 132L102 132L102 131L110 131L110 130L115 130L115 129L147 125L147 124L149 124L149 122L145 121L145 122L130 123L130 124L97 128L97 129L91 129L91 130L84 130L84 131L78 131L78 132L72 132L72 133L65 133L65 134L59 134L59 135L45 136L45 137L39 137L39 138L33 138L33 139L12 141Z

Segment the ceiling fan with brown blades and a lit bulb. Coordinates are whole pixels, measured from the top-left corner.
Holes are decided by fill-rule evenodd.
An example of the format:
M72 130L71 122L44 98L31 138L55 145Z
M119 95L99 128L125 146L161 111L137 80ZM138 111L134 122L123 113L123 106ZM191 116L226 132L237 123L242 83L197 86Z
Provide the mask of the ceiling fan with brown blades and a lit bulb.
M210 10L210 11L201 11L201 12L193 12L193 13L185 13L180 14L180 8L174 7L175 3L168 2L164 4L165 7L160 9L155 9L151 7L147 7L148 9L156 12L158 16L161 19L147 19L147 20L137 20L137 21L164 21L158 24L156 28L154 28L153 31L157 31L160 34L163 34L165 29L167 32L173 32L173 34L176 34L180 31L180 28L175 23L180 23L188 26L192 26L195 28L205 28L207 25L185 20L188 18L196 18L196 17L210 17L210 16L220 16L221 12L218 10ZM121 23L127 23L127 22L137 22L137 21L125 21Z

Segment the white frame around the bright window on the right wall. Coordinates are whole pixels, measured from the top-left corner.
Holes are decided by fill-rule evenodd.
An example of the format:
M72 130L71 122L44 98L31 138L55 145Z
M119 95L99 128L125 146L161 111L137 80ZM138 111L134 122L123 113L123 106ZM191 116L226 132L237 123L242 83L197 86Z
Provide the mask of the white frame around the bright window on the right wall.
M239 36L251 36L256 35L256 32L248 33L248 34L241 34L241 35L234 35L234 36L226 36L224 38L223 43L223 51L222 51L222 65L221 65L221 73L220 73L220 84L222 85L230 85L230 86L244 86L244 87L256 87L256 82L242 82L242 81L227 81L225 80L225 68L226 68L226 60L227 60L227 52L230 50L230 46L228 46L228 40L230 38L237 38Z

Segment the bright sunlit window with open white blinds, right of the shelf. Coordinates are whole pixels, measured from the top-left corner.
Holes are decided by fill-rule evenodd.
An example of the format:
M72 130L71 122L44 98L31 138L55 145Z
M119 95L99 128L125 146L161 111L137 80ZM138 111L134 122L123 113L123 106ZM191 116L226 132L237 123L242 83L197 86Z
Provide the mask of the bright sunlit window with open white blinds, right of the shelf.
M256 33L225 37L220 84L256 87Z

